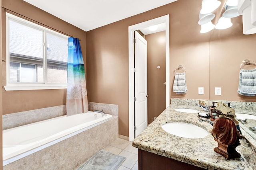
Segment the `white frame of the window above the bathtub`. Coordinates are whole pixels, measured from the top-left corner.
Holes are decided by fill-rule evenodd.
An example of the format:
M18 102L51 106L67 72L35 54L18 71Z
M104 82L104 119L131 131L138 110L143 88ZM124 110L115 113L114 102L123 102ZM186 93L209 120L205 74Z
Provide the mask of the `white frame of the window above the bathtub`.
M43 27L41 25L38 25L36 23L30 22L28 20L24 20L22 18L19 18L17 16L14 16L12 14L6 13L6 86L4 86L4 89L6 91L12 91L12 90L44 90L44 89L66 89L67 83L46 83L46 76L47 76L47 59L46 57L43 57L44 64L44 83L10 83L9 82L9 69L10 69L10 51L9 51L9 18L11 20L16 20L20 23L23 23L25 25L29 25L32 27L35 27L36 29L44 30L45 32L50 32L58 36L66 37L68 36L58 33L56 31L53 31L52 29L48 29L46 27ZM43 37L45 39L45 37ZM68 40L67 40L68 42ZM46 42L44 42L44 46L47 47ZM44 55L46 54L46 48L44 48Z

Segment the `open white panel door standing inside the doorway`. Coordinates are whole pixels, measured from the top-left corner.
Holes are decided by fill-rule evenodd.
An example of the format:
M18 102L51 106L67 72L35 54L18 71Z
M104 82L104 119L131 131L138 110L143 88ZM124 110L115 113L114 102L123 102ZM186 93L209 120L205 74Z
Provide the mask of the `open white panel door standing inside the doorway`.
M148 125L147 41L135 31L135 137Z

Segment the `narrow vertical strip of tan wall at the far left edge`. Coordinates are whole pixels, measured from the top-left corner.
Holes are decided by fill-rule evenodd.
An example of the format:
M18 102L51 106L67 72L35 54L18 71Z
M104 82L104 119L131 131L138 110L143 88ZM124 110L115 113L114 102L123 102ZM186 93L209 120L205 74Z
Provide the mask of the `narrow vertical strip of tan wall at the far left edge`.
M2 4L2 0L0 0L0 5ZM2 13L0 13L0 18L2 17ZM2 51L2 23L0 22L0 51ZM0 75L2 74L2 53L0 53ZM0 86L2 87L2 78L0 78ZM2 127L2 88L0 88L0 127ZM0 133L0 146L3 146L3 140L2 140L3 134ZM3 160L3 149L1 147L0 149L0 160ZM0 167L3 166L3 161L0 161Z

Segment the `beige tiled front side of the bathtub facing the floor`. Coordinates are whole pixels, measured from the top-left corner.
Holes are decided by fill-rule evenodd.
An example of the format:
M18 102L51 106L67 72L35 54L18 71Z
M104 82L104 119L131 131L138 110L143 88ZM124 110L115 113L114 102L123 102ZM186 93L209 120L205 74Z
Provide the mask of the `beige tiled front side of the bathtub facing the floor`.
M18 160L10 158L3 162L3 170L18 169L76 169L99 150L118 138L118 117L82 131L70 134L64 140L46 144L43 149Z

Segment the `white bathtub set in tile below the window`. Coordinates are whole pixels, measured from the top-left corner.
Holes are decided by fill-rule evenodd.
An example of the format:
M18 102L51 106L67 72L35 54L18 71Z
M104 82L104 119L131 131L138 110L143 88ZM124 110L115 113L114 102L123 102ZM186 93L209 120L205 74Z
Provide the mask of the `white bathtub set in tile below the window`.
M3 131L3 160L40 147L104 121L112 115L88 111L72 116L60 116Z

